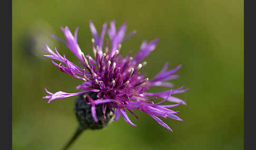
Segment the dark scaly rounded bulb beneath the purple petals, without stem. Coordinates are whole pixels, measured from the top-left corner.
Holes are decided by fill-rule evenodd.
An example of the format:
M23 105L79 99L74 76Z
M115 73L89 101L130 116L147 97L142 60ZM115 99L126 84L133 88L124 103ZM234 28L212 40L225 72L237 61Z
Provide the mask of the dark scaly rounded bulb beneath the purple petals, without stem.
M93 100L97 99L96 92L88 92L85 94L89 95ZM80 126L83 127L84 129L85 128L101 129L105 127L107 124L109 124L113 120L114 113L112 113L110 109L107 108L106 119L104 119L103 112L102 112L102 104L96 105L96 114L97 114L98 122L95 122L92 117L91 105L85 103L85 102L89 102L88 98L84 99L85 94L79 95L75 101L75 114L78 122L80 123Z

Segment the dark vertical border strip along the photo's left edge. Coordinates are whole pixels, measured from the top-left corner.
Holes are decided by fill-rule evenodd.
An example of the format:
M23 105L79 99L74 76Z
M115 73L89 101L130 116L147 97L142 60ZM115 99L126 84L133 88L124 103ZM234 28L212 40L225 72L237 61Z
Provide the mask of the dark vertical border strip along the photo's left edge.
M4 3L3 3L4 2ZM12 149L12 0L1 1L1 149ZM3 98L4 97L4 98Z

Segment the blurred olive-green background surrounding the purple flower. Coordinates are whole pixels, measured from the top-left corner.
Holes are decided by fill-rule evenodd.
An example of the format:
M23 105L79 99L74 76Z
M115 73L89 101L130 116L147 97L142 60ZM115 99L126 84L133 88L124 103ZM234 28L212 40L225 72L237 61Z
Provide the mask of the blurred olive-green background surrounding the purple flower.
M185 85L190 91L177 95L188 103L175 108L184 122L164 120L173 132L136 111L140 119L130 118L137 127L120 119L103 130L84 132L71 149L243 149L243 1L12 2L13 149L60 149L75 131L75 98L47 104L42 97L44 88L76 92L81 81L43 58L47 52L42 46L56 46L76 63L50 35L64 38L60 26L68 26L72 33L79 26L78 44L92 54L90 19L98 31L112 19L117 26L127 22L126 33L137 31L123 43L122 55L130 50L135 54L144 39L159 38L143 72L152 78L165 62L169 69L182 64L180 78L172 82L175 88ZM37 41L33 55L27 52L29 36ZM161 90L166 88L150 91Z

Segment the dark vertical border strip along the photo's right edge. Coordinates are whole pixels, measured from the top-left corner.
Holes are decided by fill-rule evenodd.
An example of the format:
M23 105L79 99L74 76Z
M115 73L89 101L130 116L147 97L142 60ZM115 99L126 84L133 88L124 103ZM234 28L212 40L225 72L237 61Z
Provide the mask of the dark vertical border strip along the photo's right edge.
M242 0L241 0L242 1ZM249 3L251 2L251 3ZM256 35L256 23L255 23L255 5L253 1L246 1L244 3L244 149L255 149L255 135L256 135L256 124L255 121L255 35ZM244 77L244 76L243 76Z

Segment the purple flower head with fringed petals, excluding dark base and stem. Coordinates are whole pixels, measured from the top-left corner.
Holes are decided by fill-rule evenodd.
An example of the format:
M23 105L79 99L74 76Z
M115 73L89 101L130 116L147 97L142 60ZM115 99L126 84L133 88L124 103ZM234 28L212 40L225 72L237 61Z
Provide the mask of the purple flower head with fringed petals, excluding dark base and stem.
M44 55L44 57L61 62L57 64L52 61L57 68L64 73L70 74L72 77L82 80L83 83L76 86L77 90L82 91L77 93L66 93L62 91L51 93L45 89L49 95L43 98L49 99L48 103L50 103L55 99L68 98L86 92L96 92L97 100L89 99L90 102L87 102L87 104L91 105L92 117L95 122L98 121L95 105L103 104L103 110L109 108L115 114L114 121L118 120L121 115L127 123L136 126L131 122L126 112L128 110L137 117L133 112L134 109L137 109L149 114L160 125L172 131L159 116L182 121L176 116L177 111L168 108L179 104L186 104L183 100L173 97L173 94L182 93L188 91L188 89L180 87L159 93L146 92L146 90L149 90L149 88L153 86L172 88L173 84L166 81L178 78L174 73L181 68L181 65L172 70L168 70L168 63L166 63L163 69L156 74L152 80L149 80L149 78L145 78L145 74L140 73L140 69L146 65L146 62L141 61L155 49L157 42L159 42L158 39L154 39L151 42L144 41L140 47L140 51L137 52L134 57L130 57L129 55L123 57L120 55L121 44L124 40L133 36L135 31L125 36L126 24L121 25L116 31L114 21L110 23L108 30L107 24L104 24L100 35L97 33L91 21L90 28L93 35L92 49L94 58L89 55L84 55L78 46L78 28L76 28L73 36L68 27L61 27L66 41L54 35L52 36L62 41L71 52L74 53L80 60L79 66L67 60L65 55L60 55L56 48L55 51L52 51L47 45L46 48L44 48L50 53L50 55ZM104 40L106 32L109 35L110 46L109 41L107 39ZM105 47L103 47L103 43L105 43ZM158 98L163 100L154 103L153 101ZM165 101L175 102L176 104L163 105L162 103Z

